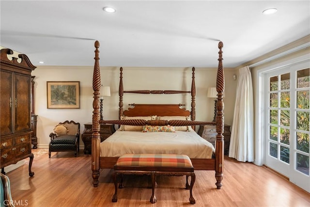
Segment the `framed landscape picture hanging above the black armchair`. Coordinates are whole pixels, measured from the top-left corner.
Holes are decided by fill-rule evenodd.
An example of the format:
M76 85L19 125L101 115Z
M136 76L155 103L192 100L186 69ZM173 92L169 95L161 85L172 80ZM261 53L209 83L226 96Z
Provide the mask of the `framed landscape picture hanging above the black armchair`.
M79 109L79 81L47 81L47 109Z

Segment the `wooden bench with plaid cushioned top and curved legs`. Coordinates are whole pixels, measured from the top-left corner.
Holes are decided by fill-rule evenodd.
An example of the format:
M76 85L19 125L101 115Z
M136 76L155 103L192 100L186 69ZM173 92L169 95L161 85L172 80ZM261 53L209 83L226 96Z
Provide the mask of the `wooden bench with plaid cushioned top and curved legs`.
M119 188L124 188L123 175L151 175L152 178L152 196L151 203L156 202L155 183L156 175L182 176L186 175L186 189L189 189L189 202L195 204L196 201L192 195L195 183L195 173L192 162L186 155L174 154L125 154L119 157L114 165L112 174L115 193L112 202L117 202L117 175L122 175ZM190 185L188 184L188 177Z

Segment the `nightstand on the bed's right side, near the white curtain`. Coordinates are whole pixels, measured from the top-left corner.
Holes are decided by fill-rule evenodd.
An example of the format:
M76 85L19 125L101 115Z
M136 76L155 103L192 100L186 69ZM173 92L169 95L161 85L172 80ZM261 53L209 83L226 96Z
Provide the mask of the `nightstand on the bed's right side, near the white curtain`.
M229 144L231 142L231 126L224 125L224 154L228 155L229 153ZM208 141L209 143L212 143L213 146L215 146L216 143L216 137L217 137L217 129L216 125L201 125L199 127L198 134Z

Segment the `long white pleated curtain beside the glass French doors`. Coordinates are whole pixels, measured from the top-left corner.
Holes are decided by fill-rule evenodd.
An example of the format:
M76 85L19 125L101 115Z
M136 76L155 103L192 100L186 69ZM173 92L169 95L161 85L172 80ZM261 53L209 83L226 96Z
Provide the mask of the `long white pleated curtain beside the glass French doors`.
M236 101L233 112L229 157L238 161L254 161L253 89L248 66L239 69Z

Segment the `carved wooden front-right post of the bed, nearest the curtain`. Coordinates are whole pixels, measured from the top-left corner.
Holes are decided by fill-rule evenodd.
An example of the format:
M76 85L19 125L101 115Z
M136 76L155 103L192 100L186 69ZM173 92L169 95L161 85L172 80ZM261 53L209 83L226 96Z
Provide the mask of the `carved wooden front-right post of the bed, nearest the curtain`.
M215 177L217 179L217 189L222 186L223 170L224 170L224 102L223 102L223 92L225 88L224 71L222 64L222 48L223 43L218 43L218 67L217 67L217 140L216 140L216 167L215 167Z

